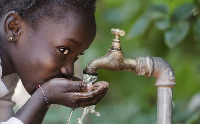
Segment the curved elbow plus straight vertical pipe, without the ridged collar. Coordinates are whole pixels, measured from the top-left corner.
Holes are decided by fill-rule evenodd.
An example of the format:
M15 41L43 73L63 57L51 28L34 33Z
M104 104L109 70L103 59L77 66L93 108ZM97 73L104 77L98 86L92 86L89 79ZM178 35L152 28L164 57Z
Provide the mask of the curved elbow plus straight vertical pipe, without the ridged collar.
M153 57L156 86L158 87L157 96L157 124L172 123L173 92L172 88L176 85L173 68L164 59Z

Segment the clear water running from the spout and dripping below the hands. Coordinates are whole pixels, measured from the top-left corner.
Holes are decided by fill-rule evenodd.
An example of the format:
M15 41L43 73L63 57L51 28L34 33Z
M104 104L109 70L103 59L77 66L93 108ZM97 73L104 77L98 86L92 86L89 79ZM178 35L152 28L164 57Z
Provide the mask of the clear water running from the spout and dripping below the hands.
M83 82L92 84L96 80L97 80L97 76L83 74ZM72 109L71 112L70 112L70 115L69 115L68 120L67 120L67 124L70 124L70 120L71 120L71 116L72 116L73 111L74 111L74 109ZM95 110L95 105L91 105L91 106L83 108L82 116L77 119L77 123L83 124L83 119L88 113L93 113L96 116L100 116L100 113Z

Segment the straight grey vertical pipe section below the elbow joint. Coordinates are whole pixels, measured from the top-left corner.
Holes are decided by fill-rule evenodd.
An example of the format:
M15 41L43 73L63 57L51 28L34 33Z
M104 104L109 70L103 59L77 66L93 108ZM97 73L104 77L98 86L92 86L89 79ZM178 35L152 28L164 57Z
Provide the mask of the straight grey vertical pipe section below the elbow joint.
M158 87L157 124L171 124L172 118L172 88Z

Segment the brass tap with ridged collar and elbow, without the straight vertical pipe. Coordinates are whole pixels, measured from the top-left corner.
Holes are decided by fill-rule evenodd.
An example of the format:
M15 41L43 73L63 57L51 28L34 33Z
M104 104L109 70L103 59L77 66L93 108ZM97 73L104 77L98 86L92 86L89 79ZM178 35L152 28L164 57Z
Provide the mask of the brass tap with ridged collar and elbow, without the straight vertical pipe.
M171 82L168 85L175 85L174 70L170 64L160 57L138 57L129 59L124 57L120 36L124 36L125 32L120 29L111 29L111 34L115 35L111 48L105 56L98 57L90 61L83 70L84 74L97 75L99 68L110 71L133 71L137 75L154 76L157 79L157 85L160 82ZM166 83L165 83L166 84Z

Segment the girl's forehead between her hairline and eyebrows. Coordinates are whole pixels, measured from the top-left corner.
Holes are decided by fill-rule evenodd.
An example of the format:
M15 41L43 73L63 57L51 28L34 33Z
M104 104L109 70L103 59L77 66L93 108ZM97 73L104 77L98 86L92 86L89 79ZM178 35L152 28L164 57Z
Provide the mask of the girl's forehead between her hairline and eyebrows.
M61 18L43 18L36 29L36 33L51 39L72 39L82 44L89 44L96 35L95 20L81 14L68 12Z

